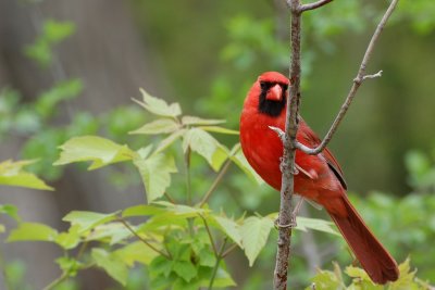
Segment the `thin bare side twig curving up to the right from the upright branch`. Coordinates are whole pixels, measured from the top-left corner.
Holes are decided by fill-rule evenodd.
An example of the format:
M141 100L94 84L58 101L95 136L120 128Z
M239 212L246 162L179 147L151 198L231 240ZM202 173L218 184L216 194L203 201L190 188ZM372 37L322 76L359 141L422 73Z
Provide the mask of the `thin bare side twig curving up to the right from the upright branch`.
M336 118L334 119L333 125L331 126L330 130L327 131L325 138L323 138L323 141L316 147L316 148L308 148L299 142L296 142L296 148L298 148L299 150L303 151L307 154L310 155L315 155L319 154L320 152L322 152L327 143L331 141L333 135L335 134L335 131L337 130L338 125L340 124L341 119L344 118L347 110L349 109L350 103L353 100L353 97L356 96L358 88L361 86L361 84L368 79L368 78L375 78L375 77L380 77L382 74L382 71L374 74L374 75L365 75L365 68L366 65L372 56L373 53L373 49L376 45L377 39L380 38L380 35L382 33L382 30L385 27L385 24L387 23L389 16L391 15L393 11L395 10L397 3L399 0L393 0L391 3L389 4L387 11L385 12L384 16L382 17L380 24L376 27L376 30L374 31L372 39L370 40L370 43L365 50L364 53L364 58L362 59L360 68L358 71L357 77L353 79L353 84L352 87L350 88L349 93L347 94L347 98L344 102L344 104L341 105L340 111L338 112Z

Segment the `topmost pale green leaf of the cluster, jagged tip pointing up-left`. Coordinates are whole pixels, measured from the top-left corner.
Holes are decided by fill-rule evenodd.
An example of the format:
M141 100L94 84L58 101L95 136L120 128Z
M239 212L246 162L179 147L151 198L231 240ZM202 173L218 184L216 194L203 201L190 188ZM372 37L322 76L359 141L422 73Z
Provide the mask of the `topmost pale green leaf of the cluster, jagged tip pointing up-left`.
M164 100L152 97L144 89L140 89L140 92L142 93L144 102L135 99L133 100L150 113L165 117L176 117L182 114L182 109L178 103L172 103L169 105Z

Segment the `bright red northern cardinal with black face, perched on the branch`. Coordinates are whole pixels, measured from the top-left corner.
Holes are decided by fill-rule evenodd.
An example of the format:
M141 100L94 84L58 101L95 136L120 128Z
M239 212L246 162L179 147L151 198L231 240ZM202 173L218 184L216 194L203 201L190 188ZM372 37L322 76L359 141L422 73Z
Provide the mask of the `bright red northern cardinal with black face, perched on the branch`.
M276 72L262 74L246 97L240 117L240 143L249 164L273 188L281 190L283 143L269 126L285 130L286 91L290 81ZM299 118L297 140L315 148L321 141ZM395 281L396 261L374 237L346 196L338 162L328 149L318 155L296 150L295 192L326 209L350 249L376 283Z

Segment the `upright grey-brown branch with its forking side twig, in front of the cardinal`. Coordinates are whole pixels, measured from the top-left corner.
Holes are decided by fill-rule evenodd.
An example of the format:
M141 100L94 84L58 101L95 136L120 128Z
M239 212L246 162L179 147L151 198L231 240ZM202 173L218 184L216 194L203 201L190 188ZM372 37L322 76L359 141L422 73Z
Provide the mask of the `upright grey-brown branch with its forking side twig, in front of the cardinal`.
M381 23L369 43L365 51L364 58L361 62L357 77L353 79L353 85L346 98L345 103L341 105L341 110L338 112L332 127L326 134L321 144L311 149L296 140L296 135L299 127L299 105L300 105L300 30L301 30L301 14L304 11L313 10L330 3L332 0L319 0L311 4L302 5L300 0L286 0L291 12L291 25L290 25L290 41L291 41L291 56L290 56L290 88L287 96L286 105L286 124L285 133L283 134L277 128L271 127L275 130L283 141L283 159L281 161L282 171L282 184L281 184L281 204L279 204L279 216L276 223L278 227L278 240L277 240L277 253L276 264L274 270L274 290L285 290L287 288L287 272L290 255L290 239L291 228L295 224L295 216L293 214L291 197L294 194L294 175L297 173L295 168L295 150L299 149L308 154L319 154L330 142L334 133L336 131L339 123L345 116L358 88L361 86L363 80L368 78L380 77L382 72L374 75L365 75L365 67L373 52L373 48L384 28L388 17L391 15L398 0L393 0L388 10L384 14Z

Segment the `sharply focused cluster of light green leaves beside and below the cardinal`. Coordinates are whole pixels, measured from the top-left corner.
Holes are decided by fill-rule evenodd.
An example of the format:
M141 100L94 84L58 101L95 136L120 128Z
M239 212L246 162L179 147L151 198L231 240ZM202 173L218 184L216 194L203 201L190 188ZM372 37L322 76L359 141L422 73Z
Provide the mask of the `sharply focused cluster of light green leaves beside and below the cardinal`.
M239 144L229 150L210 134L233 135L237 131L219 126L222 121L182 115L177 103L167 104L144 90L141 92L142 100L136 102L158 118L132 134L165 135L156 146L133 150L127 144L98 136L74 137L61 146L55 165L88 161L91 162L89 169L97 169L129 162L141 177L149 204L109 214L74 211L63 218L70 223L70 228L62 232L45 224L17 219L18 226L10 232L8 241L46 241L63 249L64 256L57 260L62 276L52 286L94 266L126 285L135 263L147 266L152 289L234 286L223 259L239 248L252 265L266 244L276 214L244 215L234 219L224 212L210 210L207 201L229 163L236 164L254 182L260 182L260 178L248 165ZM169 193L179 187L172 180L178 172L173 148L182 150L185 156L186 171L182 174L187 179L190 178L191 154L203 157L217 172L210 189L203 194L195 194L201 197L195 205L189 193L191 188L184 198L186 204L175 201ZM15 173L14 180L21 174L20 171ZM186 186L189 185L190 180L187 180ZM16 212L16 209L9 212ZM127 220L132 217L142 222L133 225ZM336 234L328 222L299 218L298 229L308 228ZM98 243L90 247L90 242ZM75 249L78 251L73 254Z

